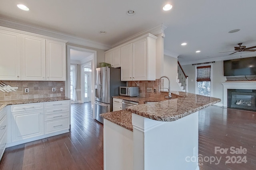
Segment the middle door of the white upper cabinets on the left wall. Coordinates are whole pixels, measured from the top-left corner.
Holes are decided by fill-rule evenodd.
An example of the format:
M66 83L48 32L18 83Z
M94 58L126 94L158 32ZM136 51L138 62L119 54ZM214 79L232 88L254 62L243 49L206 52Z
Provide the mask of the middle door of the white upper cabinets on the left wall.
M22 80L45 80L45 39L22 35Z

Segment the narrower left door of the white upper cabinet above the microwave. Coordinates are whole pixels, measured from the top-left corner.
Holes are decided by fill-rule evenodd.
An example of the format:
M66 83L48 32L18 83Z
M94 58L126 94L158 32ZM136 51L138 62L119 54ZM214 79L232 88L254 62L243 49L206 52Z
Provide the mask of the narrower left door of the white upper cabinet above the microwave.
M121 47L121 81L132 81L132 43Z

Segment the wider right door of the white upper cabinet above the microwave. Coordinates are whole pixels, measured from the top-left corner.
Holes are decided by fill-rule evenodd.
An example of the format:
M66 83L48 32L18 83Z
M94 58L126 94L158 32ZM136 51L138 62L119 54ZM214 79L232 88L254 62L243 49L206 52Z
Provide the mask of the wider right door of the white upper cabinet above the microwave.
M132 74L133 80L148 80L148 58L147 58L147 41L141 39L133 43L133 61Z

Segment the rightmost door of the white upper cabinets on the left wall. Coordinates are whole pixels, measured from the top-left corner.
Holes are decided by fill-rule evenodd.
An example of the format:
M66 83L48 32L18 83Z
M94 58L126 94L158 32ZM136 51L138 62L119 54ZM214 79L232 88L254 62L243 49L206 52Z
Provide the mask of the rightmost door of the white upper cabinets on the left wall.
M46 39L46 80L66 80L66 44Z

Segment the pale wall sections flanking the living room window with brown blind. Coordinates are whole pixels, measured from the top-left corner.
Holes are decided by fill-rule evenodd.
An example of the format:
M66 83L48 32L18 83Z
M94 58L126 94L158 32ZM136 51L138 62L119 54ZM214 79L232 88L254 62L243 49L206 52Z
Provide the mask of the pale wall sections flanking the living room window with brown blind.
M188 75L188 92L195 92L195 66L192 64L182 65L184 72ZM223 86L222 82L226 81L226 76L223 76L223 61L217 61L212 64L212 97L220 98L222 101L218 104L223 104Z

